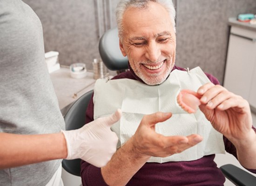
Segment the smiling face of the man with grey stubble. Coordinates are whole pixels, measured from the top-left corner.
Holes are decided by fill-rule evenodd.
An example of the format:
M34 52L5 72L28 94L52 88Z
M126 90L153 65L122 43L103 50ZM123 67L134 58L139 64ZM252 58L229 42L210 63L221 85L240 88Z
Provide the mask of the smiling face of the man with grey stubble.
M175 63L176 37L166 9L155 2L148 8L130 7L123 16L121 52L135 74L149 85L166 80Z

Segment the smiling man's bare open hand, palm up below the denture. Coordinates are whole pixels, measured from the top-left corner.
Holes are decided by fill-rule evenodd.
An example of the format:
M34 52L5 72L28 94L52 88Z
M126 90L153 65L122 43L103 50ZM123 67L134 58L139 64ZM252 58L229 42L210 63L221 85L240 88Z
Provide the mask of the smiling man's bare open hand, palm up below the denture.
M202 137L196 134L189 136L164 136L157 134L155 132L155 124L166 121L171 115L171 113L157 112L145 115L142 118L135 135L131 138L134 151L138 156L148 156L148 158L150 156L167 157L172 154L181 153L202 141Z

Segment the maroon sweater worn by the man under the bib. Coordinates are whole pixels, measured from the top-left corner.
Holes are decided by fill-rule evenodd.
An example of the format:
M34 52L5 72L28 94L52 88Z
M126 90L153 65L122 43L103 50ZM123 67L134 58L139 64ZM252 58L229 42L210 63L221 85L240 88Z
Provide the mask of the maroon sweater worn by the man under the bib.
M141 81L129 66L130 71L115 76L113 79L135 79ZM174 67L173 70L182 70ZM219 84L212 75L206 74L214 84ZM142 82L142 81L141 81ZM91 99L86 111L86 123L94 120L94 104ZM225 150L236 157L235 146L223 136ZM135 173L127 186L223 186L225 178L214 162L215 154L193 161L166 163L145 163ZM256 170L249 170L256 173ZM81 161L81 179L83 186L108 186L102 178L101 168Z

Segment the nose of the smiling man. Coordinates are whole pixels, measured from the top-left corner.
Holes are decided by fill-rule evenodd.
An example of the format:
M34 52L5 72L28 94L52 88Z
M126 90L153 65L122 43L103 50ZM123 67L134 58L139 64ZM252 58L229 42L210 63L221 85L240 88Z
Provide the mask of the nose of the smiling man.
M160 55L161 55L161 48L159 44L157 44L156 42L148 43L145 57L152 62L157 62Z

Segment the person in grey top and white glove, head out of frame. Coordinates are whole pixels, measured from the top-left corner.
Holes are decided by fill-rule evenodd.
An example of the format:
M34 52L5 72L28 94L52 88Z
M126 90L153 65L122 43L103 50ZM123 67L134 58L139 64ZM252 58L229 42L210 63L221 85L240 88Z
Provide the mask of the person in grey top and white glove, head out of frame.
M0 186L62 186L61 159L102 167L115 153L110 115L72 131L47 71L40 19L22 0L0 0Z

